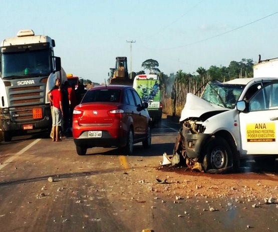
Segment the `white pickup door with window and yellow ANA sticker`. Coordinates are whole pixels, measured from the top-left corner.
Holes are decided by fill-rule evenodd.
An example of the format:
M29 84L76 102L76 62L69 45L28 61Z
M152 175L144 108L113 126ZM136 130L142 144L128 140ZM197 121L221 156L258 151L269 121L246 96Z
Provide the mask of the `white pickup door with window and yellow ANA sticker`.
M241 154L278 154L278 83L262 87L239 113Z

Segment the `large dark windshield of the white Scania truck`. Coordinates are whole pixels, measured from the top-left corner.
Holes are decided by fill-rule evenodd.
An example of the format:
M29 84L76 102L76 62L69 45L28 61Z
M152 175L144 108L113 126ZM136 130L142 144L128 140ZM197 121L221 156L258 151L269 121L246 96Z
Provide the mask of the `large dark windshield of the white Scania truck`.
M50 53L48 49L3 53L1 66L2 79L49 75Z

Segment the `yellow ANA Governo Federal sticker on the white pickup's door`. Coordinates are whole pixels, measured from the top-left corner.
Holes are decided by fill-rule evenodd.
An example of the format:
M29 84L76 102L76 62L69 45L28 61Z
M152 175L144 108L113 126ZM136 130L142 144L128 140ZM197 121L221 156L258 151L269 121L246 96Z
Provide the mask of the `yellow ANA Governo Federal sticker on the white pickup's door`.
M249 123L246 125L247 142L275 142L275 123Z

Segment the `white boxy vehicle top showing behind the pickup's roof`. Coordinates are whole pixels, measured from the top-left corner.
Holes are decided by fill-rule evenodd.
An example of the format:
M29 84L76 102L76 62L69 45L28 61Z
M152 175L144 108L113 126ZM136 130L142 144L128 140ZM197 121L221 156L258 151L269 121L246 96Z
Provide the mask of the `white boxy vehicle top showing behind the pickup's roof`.
M259 56L260 57L260 56ZM253 65L254 77L278 77L278 58L261 61Z

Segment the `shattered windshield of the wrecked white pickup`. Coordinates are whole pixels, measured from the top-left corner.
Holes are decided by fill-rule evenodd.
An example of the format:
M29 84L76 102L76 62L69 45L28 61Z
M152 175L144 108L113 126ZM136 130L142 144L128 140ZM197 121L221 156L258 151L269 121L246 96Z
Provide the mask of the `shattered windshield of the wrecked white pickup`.
M201 98L212 104L233 109L243 91L244 85L225 84L220 81L210 81L205 87Z

